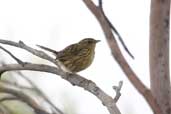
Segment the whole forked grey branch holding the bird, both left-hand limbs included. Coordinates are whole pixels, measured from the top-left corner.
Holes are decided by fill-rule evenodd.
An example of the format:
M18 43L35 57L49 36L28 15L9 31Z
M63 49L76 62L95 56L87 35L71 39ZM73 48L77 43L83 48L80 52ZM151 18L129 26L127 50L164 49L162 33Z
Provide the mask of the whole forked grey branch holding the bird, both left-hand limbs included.
M19 47L40 58L46 59L58 65L55 59L51 58L50 56L48 56L42 51L35 50L25 45L21 41L19 43L16 43L16 42L0 39L0 43ZM107 107L110 114L120 114L120 111L117 108L115 101L112 97L110 97L104 91L102 91L94 82L92 82L91 80L87 80L81 77L80 75L64 72L62 69L60 69L60 67L57 68L57 67L52 67L52 66L42 65L42 64L27 63L27 64L24 64L23 66L18 65L18 64L8 64L8 65L3 65L2 67L0 67L0 73L4 73L6 71L12 71L12 70L42 71L42 72L49 72L49 73L59 75L61 76L61 78L67 80L72 85L77 85L79 87L82 87L85 90L89 91L90 93L94 94L102 102L102 104Z

